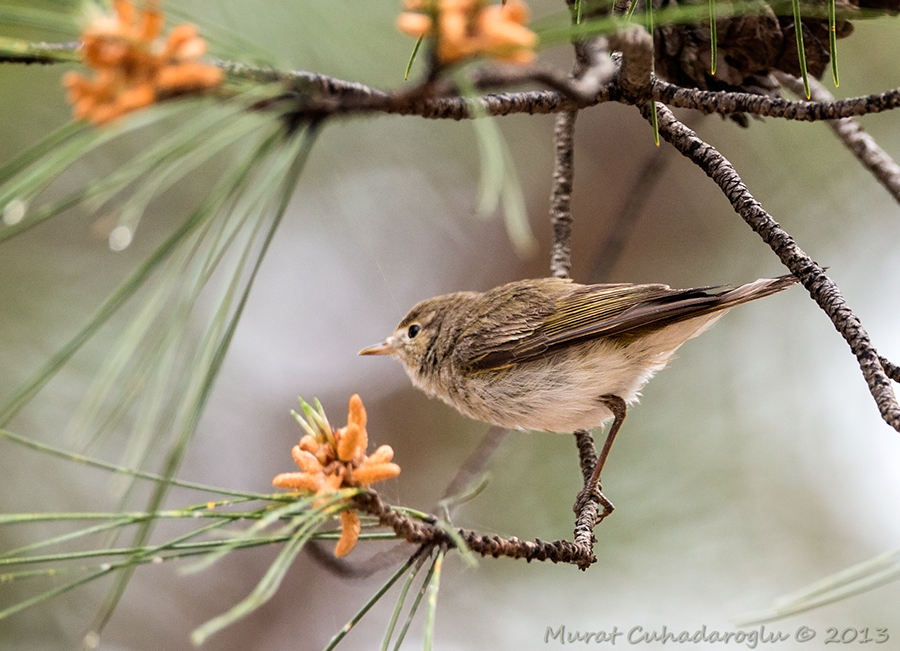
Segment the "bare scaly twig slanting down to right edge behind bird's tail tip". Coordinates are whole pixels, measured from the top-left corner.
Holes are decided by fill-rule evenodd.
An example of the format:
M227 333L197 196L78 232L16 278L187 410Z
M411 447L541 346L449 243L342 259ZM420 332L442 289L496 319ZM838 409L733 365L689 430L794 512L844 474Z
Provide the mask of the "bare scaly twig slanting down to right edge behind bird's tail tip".
M647 119L650 118L649 106L643 105L641 111ZM659 132L663 138L716 182L735 211L771 247L828 315L856 356L881 417L891 427L900 431L900 405L897 404L891 382L885 375L881 358L862 323L847 306L837 285L825 275L821 266L797 246L794 239L772 219L771 215L763 210L734 167L722 154L676 120L665 106L657 106L657 115Z

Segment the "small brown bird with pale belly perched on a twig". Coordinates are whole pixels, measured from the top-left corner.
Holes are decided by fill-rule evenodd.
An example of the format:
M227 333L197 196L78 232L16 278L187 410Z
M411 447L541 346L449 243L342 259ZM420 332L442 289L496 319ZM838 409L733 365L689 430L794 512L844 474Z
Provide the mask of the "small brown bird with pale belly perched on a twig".
M520 280L422 301L360 355L393 355L425 393L500 427L573 432L615 418L590 493L626 405L678 347L732 307L796 282L672 289Z

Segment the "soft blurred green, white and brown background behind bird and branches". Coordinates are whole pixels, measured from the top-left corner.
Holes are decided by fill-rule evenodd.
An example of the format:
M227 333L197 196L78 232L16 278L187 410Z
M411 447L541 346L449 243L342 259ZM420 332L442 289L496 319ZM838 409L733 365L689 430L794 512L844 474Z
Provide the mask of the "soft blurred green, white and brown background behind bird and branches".
M530 4L537 17L559 11L549 0ZM382 88L403 84L412 41L393 26L397 3L216 5L184 3L262 44L280 66ZM896 20L857 21L856 33L839 42L842 83L835 94L900 86L898 35ZM570 65L569 48L542 57ZM0 162L68 119L61 72L0 67ZM900 359L900 208L830 129L772 119L741 129L715 116L682 117L735 165L799 245L830 267L879 351ZM862 122L900 156L895 113ZM349 396L359 393L370 441L393 446L403 468L383 495L433 508L487 427L414 390L393 360L356 352L389 334L419 300L548 273L553 117L497 123L540 244L529 258L516 253L500 217L475 214L479 159L470 123L374 117L327 125L179 477L267 492L275 474L293 469L290 448L300 431L289 410L297 395L318 397L332 422L342 424ZM139 151L140 143L109 147L73 178L102 175ZM646 166L655 157L663 160L652 183ZM97 215L84 210L0 246L0 401L180 223L179 202L208 181L201 173L168 196L122 252L110 251L92 230ZM634 194L647 195L646 203L623 231L617 217ZM601 105L581 113L573 201L578 281L687 287L784 273L700 170L666 144L654 146L633 109ZM627 239L614 254L609 242L617 233ZM65 424L118 331L113 325L95 337L11 429L74 447L63 436ZM115 452L106 450L110 458ZM598 563L580 572L485 559L469 569L451 554L437 648L544 648L548 628L561 625L737 630L741 615L900 547L898 461L900 434L881 421L849 349L802 288L741 307L686 344L629 412L604 472L616 512L596 531ZM0 477L3 512L106 511L121 489L102 472L6 441ZM493 458L486 490L456 513L454 524L525 539L571 538L579 478L571 436L511 434ZM196 499L174 491L169 504ZM56 530L7 527L0 548L47 531ZM376 547L361 545L350 559ZM232 554L189 576L178 564L138 569L100 648L190 648L190 632L252 590L276 553ZM301 555L266 606L204 648L321 648L388 574L340 579ZM105 587L90 585L0 622L0 648L77 646ZM9 604L34 588L6 584L0 593ZM888 628L900 636L898 602L900 585L893 583L767 629L809 626L816 644L829 627ZM378 604L341 648L376 647L393 603L389 596ZM409 648L418 647L420 629L421 619Z

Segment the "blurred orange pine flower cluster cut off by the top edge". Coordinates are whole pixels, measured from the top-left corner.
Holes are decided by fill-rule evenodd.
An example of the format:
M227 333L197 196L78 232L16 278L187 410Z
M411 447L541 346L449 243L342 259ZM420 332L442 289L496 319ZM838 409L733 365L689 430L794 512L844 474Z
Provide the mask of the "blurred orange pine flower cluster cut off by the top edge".
M433 37L441 63L479 55L507 63L534 60L538 39L525 26L528 7L522 0L490 6L485 0L406 0L405 6L398 29L416 38Z

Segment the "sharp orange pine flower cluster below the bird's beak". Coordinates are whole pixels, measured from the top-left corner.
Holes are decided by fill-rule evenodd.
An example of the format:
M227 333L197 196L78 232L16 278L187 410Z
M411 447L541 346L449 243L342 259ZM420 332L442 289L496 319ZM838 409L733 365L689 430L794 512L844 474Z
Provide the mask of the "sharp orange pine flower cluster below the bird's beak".
M287 490L327 495L341 488L368 488L370 484L393 479L400 474L400 466L392 463L394 451L382 445L366 455L369 435L366 431L366 409L356 394L350 398L347 425L332 431L325 414L313 410L301 400L304 419L294 414L307 431L300 443L291 450L294 463L301 472L285 472L272 483ZM341 512L341 538L334 553L350 553L359 538L360 522L355 509Z

